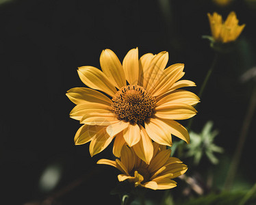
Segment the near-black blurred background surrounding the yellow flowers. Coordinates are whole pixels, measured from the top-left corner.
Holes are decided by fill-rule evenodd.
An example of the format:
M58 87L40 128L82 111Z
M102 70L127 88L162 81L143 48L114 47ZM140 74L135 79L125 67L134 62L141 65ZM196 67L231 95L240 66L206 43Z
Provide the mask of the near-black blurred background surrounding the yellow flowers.
M118 197L109 194L118 171L96 165L101 158L112 158L111 146L91 158L88 143L73 143L80 125L69 118L74 105L65 93L84 86L77 67L100 68L103 49L112 49L120 61L136 46L140 56L168 51L168 65L184 63L183 79L194 81L198 86L190 90L198 93L214 58L208 40L201 37L210 35L207 12L226 18L234 10L246 27L235 49L218 60L192 127L199 132L207 120L214 121L220 131L216 144L225 148L217 156L227 167L253 87L253 81L240 81L255 66L256 10L248 2L221 8L205 0L1 1L0 203L29 204L53 196L55 204L118 204ZM240 180L249 184L256 181L255 123L254 116L238 168ZM207 165L197 171L204 172ZM42 187L40 178L51 167L59 180ZM151 197L162 193L152 191Z

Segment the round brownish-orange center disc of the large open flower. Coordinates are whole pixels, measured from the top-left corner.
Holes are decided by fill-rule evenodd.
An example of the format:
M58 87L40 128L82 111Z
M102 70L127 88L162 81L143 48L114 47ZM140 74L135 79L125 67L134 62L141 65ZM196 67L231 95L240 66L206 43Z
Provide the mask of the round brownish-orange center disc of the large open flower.
M155 98L140 85L127 85L116 92L111 107L119 120L142 124L152 117Z

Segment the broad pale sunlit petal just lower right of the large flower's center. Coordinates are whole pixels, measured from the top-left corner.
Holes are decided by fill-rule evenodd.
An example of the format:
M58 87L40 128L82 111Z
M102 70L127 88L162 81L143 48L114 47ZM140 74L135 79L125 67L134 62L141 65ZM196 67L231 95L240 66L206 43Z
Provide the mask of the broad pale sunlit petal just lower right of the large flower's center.
M160 123L159 123L160 122ZM167 124L156 118L151 118L149 122L145 122L146 133L153 141L166 146L172 146L172 137L170 128Z

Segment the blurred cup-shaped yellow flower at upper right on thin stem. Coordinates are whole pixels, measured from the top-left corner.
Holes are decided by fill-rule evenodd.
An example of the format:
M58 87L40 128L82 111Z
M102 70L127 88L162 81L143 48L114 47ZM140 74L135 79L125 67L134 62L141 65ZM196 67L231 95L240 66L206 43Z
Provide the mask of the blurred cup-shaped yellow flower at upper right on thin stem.
M222 16L216 12L212 15L209 13L207 15L212 37L216 42L227 43L236 40L245 27L244 24L238 25L238 18L236 18L235 12L230 12L225 23L222 22Z

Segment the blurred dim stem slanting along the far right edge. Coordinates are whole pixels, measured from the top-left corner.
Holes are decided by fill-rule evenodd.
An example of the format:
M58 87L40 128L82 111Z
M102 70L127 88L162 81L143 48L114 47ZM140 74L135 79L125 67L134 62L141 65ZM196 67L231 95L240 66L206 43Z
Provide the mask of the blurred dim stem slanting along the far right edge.
M244 116L242 128L240 131L240 136L238 139L238 144L235 149L235 153L233 155L233 159L229 166L229 172L227 173L227 178L224 184L224 189L230 190L233 184L233 180L235 178L235 174L238 169L238 165L240 163L240 158L242 154L242 150L244 148L244 142L246 140L246 135L248 133L248 128L251 124L251 120L253 118L253 113L256 107L256 86L253 87L253 94L251 95L251 100L248 105L248 109L246 111L246 115Z

